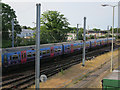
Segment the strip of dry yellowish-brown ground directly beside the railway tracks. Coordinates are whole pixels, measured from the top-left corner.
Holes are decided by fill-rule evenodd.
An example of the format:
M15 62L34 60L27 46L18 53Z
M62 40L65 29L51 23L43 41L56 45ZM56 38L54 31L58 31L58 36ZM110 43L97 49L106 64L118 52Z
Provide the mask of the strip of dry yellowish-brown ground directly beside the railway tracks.
M118 56L118 50L115 50L113 54L114 58L116 58ZM93 60L86 61L84 67L81 63L74 65L63 71L63 73L59 72L58 74L50 77L45 83L40 83L40 88L61 88L70 85L71 82L78 79L80 80L81 77L85 77L88 72L102 67L102 65L110 61L110 58L111 52L108 52L94 58ZM35 88L35 85L30 88Z

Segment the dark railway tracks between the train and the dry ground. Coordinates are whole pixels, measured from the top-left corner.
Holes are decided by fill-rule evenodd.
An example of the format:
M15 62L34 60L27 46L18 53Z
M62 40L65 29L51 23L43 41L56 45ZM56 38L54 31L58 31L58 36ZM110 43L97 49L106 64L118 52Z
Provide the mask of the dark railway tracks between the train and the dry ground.
M110 47L105 47L102 49L95 50L88 52L86 54L86 59L92 59L100 54L103 54L105 52L108 52L110 50ZM82 60L82 54L81 55L75 55L72 57L64 58L64 60L56 60L53 64L49 63L46 67L41 67L41 74L47 75L47 77L50 77L61 70L65 70L75 64L80 63ZM46 64L47 65L47 64ZM3 76L3 82L2 82L2 89L11 88L11 89L25 89L35 83L35 71L29 70L22 73L17 73L9 76Z

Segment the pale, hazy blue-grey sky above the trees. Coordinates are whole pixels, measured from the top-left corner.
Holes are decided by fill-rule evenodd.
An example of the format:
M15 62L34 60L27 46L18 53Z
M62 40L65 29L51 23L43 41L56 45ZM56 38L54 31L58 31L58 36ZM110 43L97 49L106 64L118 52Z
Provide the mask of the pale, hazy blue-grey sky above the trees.
M109 2L108 2L109 1ZM112 26L112 7L102 7L101 4L117 5L114 0L3 0L16 12L17 20L22 26L34 27L36 22L36 3L41 3L41 14L47 10L59 11L68 19L70 26L83 27L83 18L87 18L87 28L107 29ZM115 27L118 26L118 7L115 8Z

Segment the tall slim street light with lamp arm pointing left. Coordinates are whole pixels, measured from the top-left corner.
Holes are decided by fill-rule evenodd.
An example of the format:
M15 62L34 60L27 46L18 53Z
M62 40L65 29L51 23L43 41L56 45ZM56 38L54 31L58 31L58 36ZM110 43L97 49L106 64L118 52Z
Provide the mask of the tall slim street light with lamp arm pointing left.
M106 6L110 6L113 8L113 25L112 25L112 46L111 46L111 52L112 52L112 55L111 55L111 69L110 69L110 72L112 72L112 61L113 61L113 30L114 30L114 9L117 5L108 5L108 4L103 4L102 5L103 7L106 7Z

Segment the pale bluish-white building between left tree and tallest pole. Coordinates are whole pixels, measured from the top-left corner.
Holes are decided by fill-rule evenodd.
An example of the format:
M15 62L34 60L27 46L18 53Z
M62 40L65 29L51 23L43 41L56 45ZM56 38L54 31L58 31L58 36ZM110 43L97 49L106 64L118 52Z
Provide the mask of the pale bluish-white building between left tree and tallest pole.
M22 29L22 32L20 34L17 34L17 36L21 38L30 38L33 37L35 31L31 29Z

